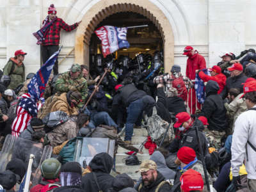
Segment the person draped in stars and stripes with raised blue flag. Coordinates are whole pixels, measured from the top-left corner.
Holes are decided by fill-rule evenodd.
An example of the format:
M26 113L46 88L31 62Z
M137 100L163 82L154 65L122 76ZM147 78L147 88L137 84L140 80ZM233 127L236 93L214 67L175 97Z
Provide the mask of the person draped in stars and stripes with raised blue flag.
M27 129L29 120L37 116L38 109L42 106L42 103L38 101L42 100L44 102L42 95L44 95L45 86L60 53L60 49L54 52L38 72L36 72L28 84L28 93L21 95L19 106L17 106L17 116L12 124L13 136L19 137L20 133Z

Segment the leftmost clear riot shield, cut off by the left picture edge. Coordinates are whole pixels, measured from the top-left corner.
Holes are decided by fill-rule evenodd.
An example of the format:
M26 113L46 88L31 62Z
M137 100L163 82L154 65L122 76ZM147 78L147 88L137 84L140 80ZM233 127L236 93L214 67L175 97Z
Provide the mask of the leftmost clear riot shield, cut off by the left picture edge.
M13 145L17 138L8 134L4 140L4 145L0 154L0 172L3 172L6 168L6 165L12 159Z

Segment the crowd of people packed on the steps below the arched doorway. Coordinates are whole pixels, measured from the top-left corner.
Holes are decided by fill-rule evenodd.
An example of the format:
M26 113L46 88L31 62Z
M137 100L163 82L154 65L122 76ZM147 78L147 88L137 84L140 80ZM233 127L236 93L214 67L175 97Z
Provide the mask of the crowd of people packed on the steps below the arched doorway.
M58 50L60 29L71 31L79 25L68 26L56 17L53 4L48 13L40 29L43 36L37 36L44 62ZM12 160L0 173L1 189L17 191L34 152L31 180L40 180L31 182L30 191L256 191L254 49L239 56L225 52L219 63L206 68L204 57L187 46L186 75L179 65L164 74L161 51L133 59L91 55L90 68L75 63L62 74L56 61L44 101L36 103L28 92L35 74L25 78L26 54L15 51L1 73L2 159L6 148L13 147L7 151ZM152 116L157 116L154 125L147 121ZM156 142L150 159L134 170L141 178L115 172L118 145L131 150L131 157L142 154L132 145L134 129L152 126L157 132L163 122L172 134L168 140L161 135L161 147L150 140ZM15 138L14 146L8 134ZM93 157L79 164L74 161L79 138L115 140L114 154L97 153L88 145ZM52 148L51 158L40 163L45 147Z

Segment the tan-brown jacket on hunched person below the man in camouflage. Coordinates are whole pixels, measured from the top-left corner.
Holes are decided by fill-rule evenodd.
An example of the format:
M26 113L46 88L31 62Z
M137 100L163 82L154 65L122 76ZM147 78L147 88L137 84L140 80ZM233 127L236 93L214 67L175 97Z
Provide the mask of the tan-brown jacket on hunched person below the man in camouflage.
M58 96L58 100L52 105L51 112L54 111L64 111L68 116L70 115L78 115L77 108L71 108L71 106L67 102L67 93L62 93Z

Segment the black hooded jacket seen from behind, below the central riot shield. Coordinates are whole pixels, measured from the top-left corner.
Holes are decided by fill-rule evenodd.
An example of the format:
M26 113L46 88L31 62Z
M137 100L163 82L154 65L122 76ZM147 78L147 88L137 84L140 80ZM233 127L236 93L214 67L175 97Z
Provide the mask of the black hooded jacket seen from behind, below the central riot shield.
M92 169L92 173L87 173L82 177L82 189L88 192L99 191L93 177L93 173L95 173L100 189L103 192L107 192L113 186L113 181L115 180L115 177L109 175L113 167L113 158L109 154L102 152L93 157L89 166Z

